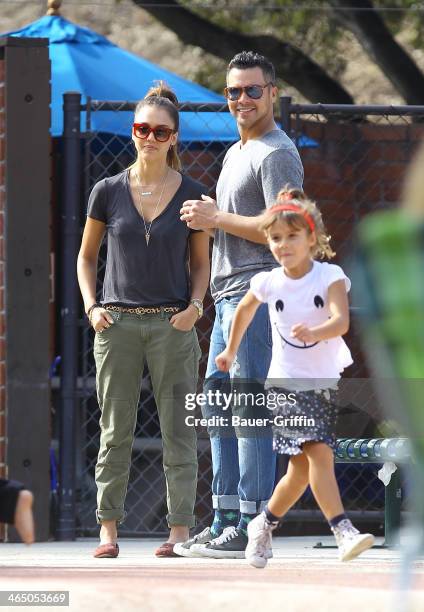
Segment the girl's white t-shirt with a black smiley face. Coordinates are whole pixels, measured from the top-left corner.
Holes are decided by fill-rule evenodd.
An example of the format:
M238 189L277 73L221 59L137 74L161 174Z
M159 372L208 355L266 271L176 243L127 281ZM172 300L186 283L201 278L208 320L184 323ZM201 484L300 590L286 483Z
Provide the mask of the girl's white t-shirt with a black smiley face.
M311 270L302 278L289 278L283 268L278 267L260 272L251 279L250 290L258 300L268 304L272 325L272 359L267 387L327 388L336 384L343 370L353 363L340 336L303 343L290 335L292 326L297 323L313 327L330 317L328 288L338 280L344 280L346 290L350 290L350 280L340 266L318 261L313 262Z

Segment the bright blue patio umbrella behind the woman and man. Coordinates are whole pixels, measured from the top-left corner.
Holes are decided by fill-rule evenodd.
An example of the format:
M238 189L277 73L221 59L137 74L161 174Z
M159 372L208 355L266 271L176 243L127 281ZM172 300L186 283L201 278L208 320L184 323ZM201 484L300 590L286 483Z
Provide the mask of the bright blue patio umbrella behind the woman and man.
M225 98L183 79L160 66L121 49L93 30L78 26L59 15L46 15L20 30L2 36L47 38L52 67L52 136L63 132L63 94L78 91L85 103L95 100L137 101L155 81L163 80L180 102L222 103ZM239 139L236 123L228 112L182 112L182 142L234 142ZM129 137L133 113L96 111L90 116L90 130ZM85 113L81 129L85 131ZM317 146L301 136L297 146Z

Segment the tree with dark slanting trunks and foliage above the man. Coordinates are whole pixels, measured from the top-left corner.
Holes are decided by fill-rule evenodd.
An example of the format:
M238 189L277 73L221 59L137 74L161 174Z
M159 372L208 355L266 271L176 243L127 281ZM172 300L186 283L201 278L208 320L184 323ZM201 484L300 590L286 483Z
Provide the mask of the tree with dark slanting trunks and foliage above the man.
M277 74L311 102L354 102L338 81L345 60L337 43L349 30L408 104L424 103L424 74L395 39L406 21L414 25L416 44L424 38L422 14L411 12L412 0L391 3L400 9L396 12L379 11L387 0L308 0L307 6L295 0L133 2L184 44L225 62L242 49L261 51Z

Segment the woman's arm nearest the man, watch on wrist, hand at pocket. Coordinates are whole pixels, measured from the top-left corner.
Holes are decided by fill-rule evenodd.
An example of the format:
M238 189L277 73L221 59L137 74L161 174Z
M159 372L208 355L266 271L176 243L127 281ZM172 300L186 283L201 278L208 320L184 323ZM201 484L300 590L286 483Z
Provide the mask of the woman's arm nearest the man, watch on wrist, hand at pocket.
M191 299L202 300L209 285L209 236L206 232L192 232L189 237L190 247L190 285ZM193 304L178 312L169 319L171 325L180 331L189 331L199 317Z

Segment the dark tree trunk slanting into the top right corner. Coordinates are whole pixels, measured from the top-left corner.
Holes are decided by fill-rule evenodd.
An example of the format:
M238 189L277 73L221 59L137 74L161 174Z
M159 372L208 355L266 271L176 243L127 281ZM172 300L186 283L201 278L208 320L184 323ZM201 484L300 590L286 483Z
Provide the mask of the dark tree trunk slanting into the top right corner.
M424 75L396 42L370 0L329 0L349 29L408 104L424 104ZM355 10L349 7L355 6ZM338 9L344 10L338 10ZM365 9L365 10L358 10Z

